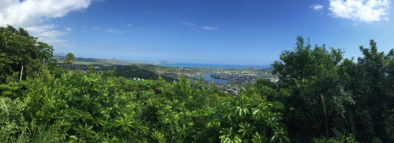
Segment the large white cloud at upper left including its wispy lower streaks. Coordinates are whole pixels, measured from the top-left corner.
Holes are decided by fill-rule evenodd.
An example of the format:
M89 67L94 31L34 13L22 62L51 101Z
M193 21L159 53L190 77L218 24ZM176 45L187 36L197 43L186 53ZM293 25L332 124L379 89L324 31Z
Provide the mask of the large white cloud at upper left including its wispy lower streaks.
M0 26L23 27L39 41L65 48L69 44L59 36L67 33L56 30L58 25L45 23L68 12L86 9L91 1L94 0L0 0ZM65 31L71 30L65 27Z

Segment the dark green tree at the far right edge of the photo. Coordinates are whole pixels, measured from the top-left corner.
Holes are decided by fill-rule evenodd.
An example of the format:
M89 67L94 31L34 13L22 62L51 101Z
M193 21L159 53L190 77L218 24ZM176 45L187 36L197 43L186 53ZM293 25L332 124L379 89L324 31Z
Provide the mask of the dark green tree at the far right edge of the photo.
M343 63L341 74L347 79L342 81L345 89L349 91L356 104L349 106L348 113L354 114L353 134L361 141L371 141L379 138L390 142L393 131L384 130L392 128L388 123L392 120L394 109L393 96L393 49L388 54L379 52L374 40L369 41L369 48L360 46L363 54L357 63ZM350 118L352 124L352 118ZM385 121L386 120L386 121ZM388 120L388 121L387 121ZM386 122L387 126L384 126ZM393 139L391 139L391 142Z

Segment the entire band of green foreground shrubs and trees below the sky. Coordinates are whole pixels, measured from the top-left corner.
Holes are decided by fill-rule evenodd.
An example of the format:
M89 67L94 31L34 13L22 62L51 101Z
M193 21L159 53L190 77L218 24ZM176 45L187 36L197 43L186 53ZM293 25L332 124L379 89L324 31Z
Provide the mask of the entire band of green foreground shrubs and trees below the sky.
M272 64L277 82L230 96L203 75L133 81L119 68L61 68L51 46L0 27L0 142L394 142L394 50L373 40L360 50L344 59L297 36Z

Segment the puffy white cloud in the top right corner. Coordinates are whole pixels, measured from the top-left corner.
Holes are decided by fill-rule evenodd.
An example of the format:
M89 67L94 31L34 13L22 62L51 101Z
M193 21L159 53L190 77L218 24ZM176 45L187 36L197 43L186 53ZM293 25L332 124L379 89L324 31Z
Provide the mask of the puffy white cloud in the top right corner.
M329 10L333 17L356 22L379 22L387 17L390 0L330 0Z

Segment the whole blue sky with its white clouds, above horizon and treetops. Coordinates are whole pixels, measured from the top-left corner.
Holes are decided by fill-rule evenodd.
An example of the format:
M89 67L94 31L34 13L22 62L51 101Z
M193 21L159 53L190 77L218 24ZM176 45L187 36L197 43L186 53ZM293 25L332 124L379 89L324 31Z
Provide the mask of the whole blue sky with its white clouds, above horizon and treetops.
M2 5L2 6L1 6ZM22 26L55 53L134 61L269 65L296 36L361 56L394 48L390 0L5 0L0 26Z

